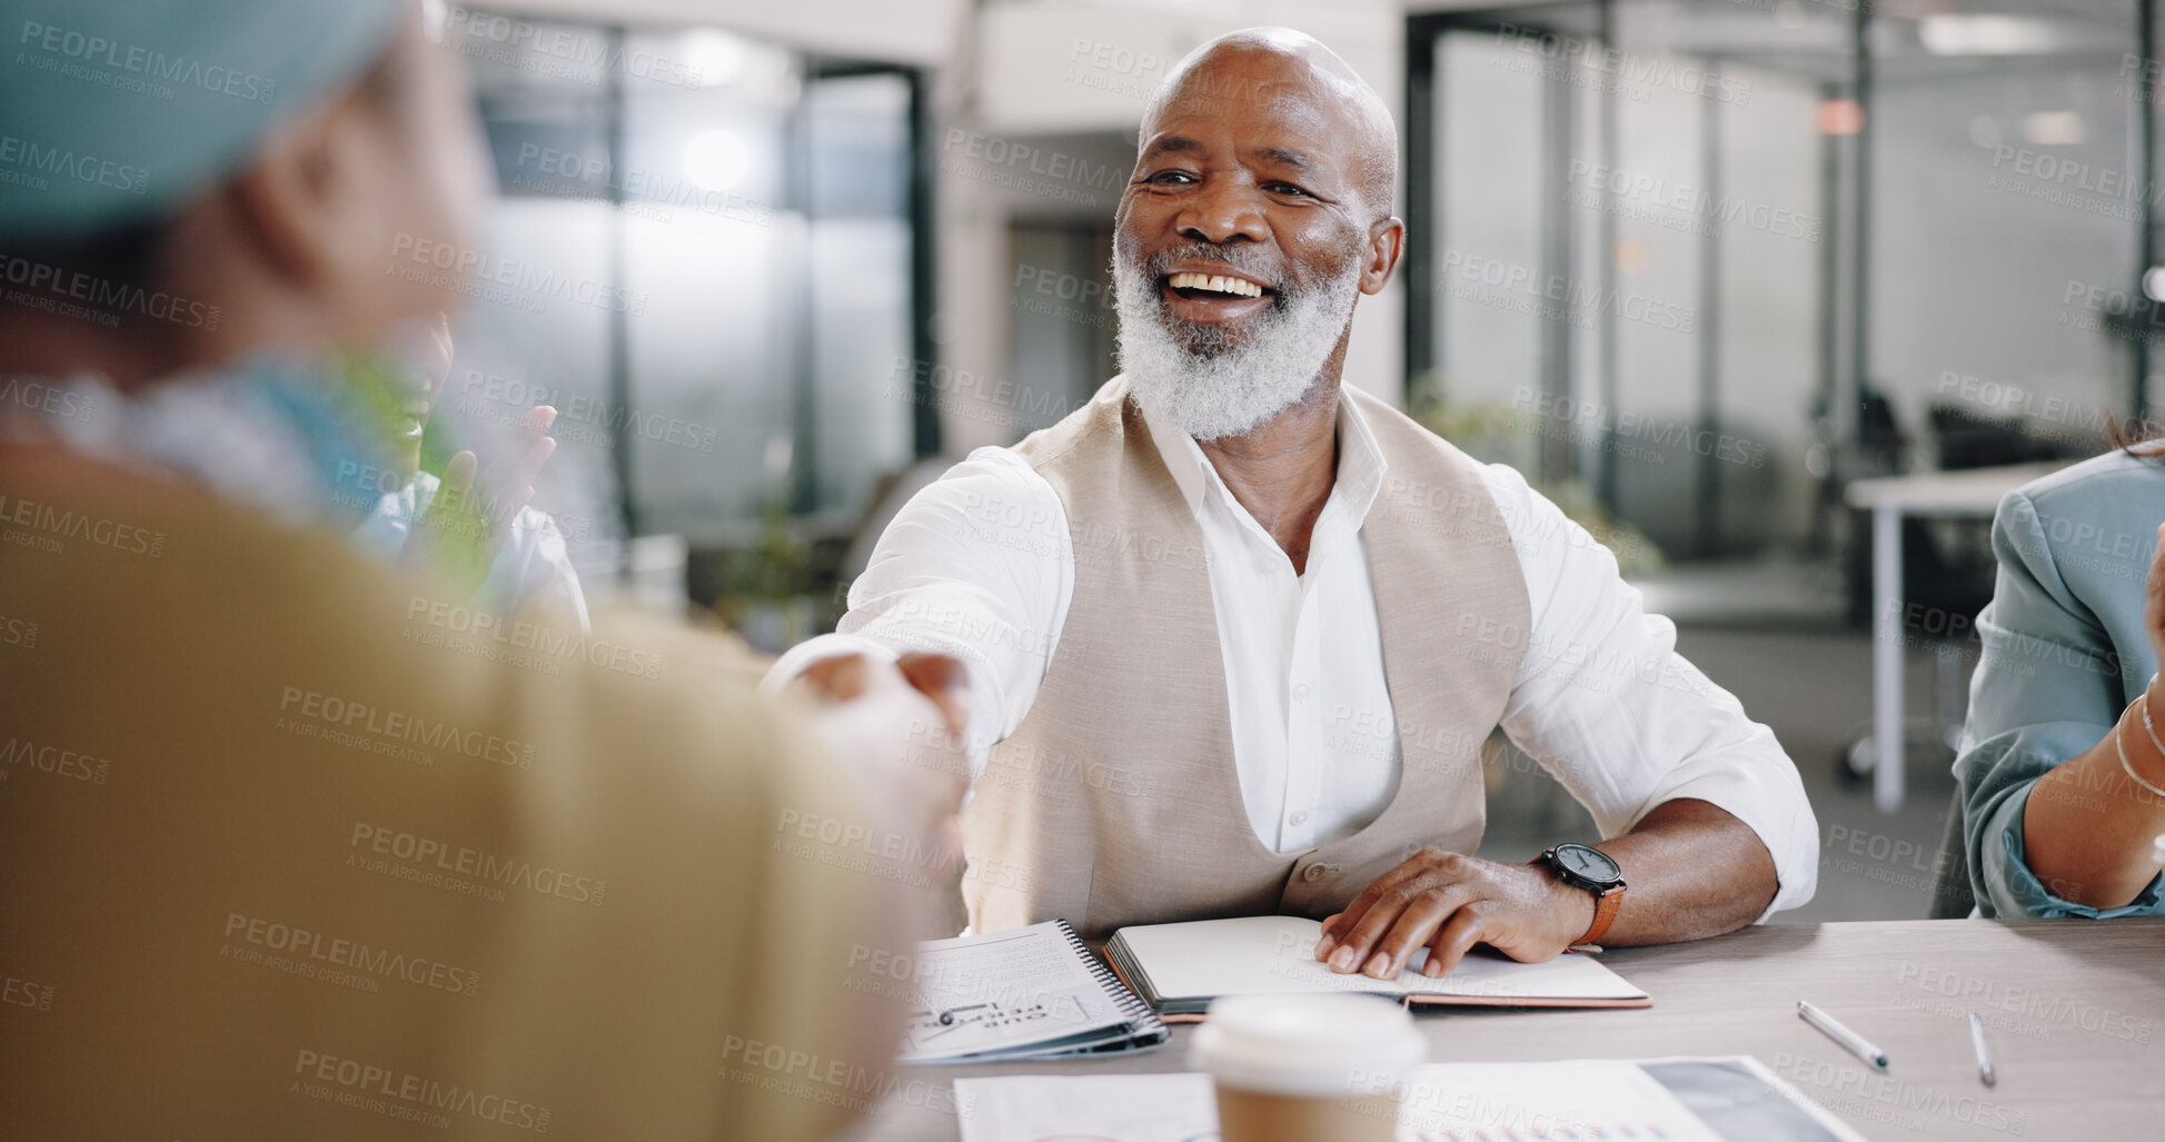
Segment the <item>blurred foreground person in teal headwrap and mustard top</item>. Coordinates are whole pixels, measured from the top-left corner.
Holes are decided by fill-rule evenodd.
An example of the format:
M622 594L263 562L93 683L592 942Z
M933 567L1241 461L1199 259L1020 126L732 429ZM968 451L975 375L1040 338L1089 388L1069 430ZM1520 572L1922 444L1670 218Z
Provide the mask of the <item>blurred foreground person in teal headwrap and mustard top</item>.
M340 362L444 303L394 236L485 186L418 7L4 35L0 1133L831 1135L896 1027L838 982L911 901L777 836L931 834L959 778L851 726L942 715L868 661L812 715L680 631L496 639L472 566L355 553L392 449Z

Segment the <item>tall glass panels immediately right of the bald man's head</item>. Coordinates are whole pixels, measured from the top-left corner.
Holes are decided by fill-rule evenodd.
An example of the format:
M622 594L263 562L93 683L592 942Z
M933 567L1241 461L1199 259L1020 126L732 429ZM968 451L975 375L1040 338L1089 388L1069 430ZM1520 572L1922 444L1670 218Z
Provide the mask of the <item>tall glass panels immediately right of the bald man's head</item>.
M1840 41L1814 4L1414 17L1416 403L1665 555L1801 533Z

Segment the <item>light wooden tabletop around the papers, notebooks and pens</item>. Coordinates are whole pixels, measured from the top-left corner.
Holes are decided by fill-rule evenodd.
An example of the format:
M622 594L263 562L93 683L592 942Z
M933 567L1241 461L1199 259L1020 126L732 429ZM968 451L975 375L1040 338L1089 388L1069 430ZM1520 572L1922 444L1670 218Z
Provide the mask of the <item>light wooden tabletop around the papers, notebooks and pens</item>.
M1875 1140L2165 1138L2165 919L1762 925L1604 956L1645 1010L1420 1014L1433 1062L1758 1055ZM1877 1042L1868 1073L1797 1018L1810 999ZM1977 1079L1966 1012L1998 1086ZM950 1079L1186 1070L1165 1049L1087 1062L892 1068L855 1140L953 1142Z

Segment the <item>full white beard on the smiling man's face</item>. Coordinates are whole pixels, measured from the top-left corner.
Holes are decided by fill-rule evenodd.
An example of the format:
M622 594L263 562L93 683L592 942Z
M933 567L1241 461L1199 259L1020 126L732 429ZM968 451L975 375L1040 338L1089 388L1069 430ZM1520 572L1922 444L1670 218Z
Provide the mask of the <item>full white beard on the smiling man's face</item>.
M1115 254L1119 368L1152 425L1195 440L1245 436L1308 394L1357 297L1360 262L1349 260L1340 277L1286 290L1225 345L1219 329L1167 312L1156 277Z

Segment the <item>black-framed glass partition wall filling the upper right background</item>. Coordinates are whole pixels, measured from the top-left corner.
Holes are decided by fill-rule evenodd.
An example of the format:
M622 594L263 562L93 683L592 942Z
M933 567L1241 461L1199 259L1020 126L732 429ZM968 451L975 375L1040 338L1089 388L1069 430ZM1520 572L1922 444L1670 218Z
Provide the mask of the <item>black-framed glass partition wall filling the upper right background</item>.
M1416 407L1626 566L1823 550L1860 475L2102 449L2159 327L2150 37L2135 0L1414 15Z

